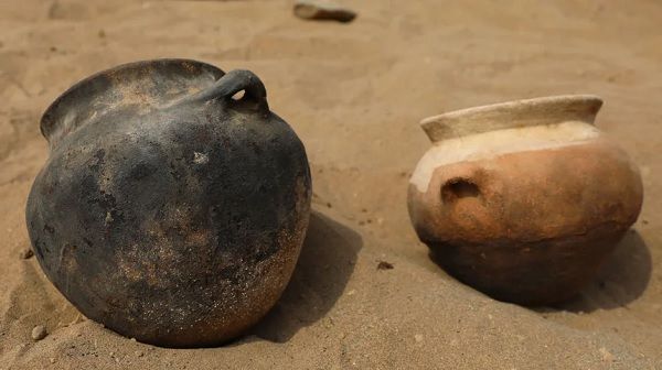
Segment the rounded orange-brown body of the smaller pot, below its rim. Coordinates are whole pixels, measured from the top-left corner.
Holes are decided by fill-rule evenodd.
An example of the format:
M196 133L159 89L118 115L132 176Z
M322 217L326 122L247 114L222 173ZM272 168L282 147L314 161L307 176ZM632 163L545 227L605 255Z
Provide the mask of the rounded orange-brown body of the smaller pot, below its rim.
M421 241L460 281L521 304L576 294L634 222L642 202L637 168L604 138L427 171L427 187L409 186L409 214Z

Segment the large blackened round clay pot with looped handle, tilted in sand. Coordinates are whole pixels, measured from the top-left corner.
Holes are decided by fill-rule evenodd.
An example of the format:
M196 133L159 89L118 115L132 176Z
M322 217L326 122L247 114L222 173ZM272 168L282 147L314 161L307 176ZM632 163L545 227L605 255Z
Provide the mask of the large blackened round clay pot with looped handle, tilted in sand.
M253 73L122 65L64 92L41 130L51 153L28 198L30 239L85 316L197 347L276 303L308 225L310 171Z

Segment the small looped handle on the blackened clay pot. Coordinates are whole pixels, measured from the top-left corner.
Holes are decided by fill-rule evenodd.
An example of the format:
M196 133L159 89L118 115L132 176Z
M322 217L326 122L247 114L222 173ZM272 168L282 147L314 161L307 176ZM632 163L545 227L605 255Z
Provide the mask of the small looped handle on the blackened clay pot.
M259 110L269 110L265 85L253 72L246 69L234 69L226 73L212 87L195 96L195 99L231 101L232 97L242 90L244 90L242 100L247 99L255 102Z

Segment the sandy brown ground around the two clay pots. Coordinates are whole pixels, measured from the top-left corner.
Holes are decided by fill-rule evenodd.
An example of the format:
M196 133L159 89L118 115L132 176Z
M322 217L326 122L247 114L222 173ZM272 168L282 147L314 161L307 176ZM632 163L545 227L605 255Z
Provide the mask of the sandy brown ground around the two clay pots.
M342 3L354 22L301 21L286 0L0 0L0 369L662 369L662 3ZM292 281L221 348L120 337L19 258L47 157L41 112L90 73L153 57L253 69L311 162L316 213ZM642 215L573 302L495 302L445 274L409 226L408 176L430 145L417 122L573 92L605 98L597 124L640 165Z

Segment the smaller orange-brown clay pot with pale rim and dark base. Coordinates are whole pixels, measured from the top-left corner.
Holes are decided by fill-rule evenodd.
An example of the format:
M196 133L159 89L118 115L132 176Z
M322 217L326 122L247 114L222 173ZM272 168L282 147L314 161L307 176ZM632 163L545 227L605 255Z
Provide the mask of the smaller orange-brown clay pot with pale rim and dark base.
M594 127L602 101L558 96L430 117L414 172L418 237L451 275L525 305L575 295L637 220L639 172Z

